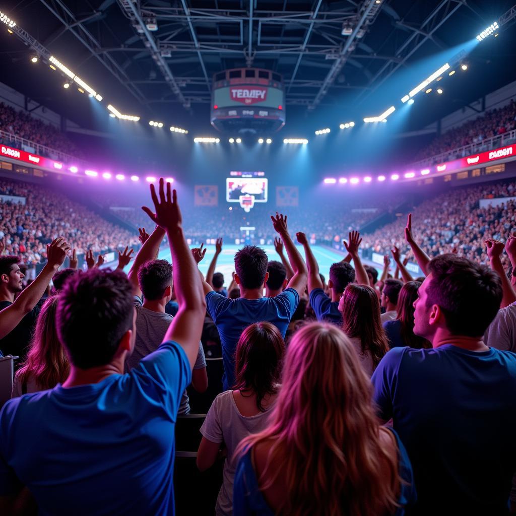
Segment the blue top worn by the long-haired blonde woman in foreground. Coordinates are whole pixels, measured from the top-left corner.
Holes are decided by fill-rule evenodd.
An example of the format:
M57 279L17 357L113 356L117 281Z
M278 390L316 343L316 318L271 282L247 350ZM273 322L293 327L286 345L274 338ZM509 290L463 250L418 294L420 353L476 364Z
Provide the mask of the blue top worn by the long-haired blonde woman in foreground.
M404 480L401 482L398 497L399 507L394 516L404 516L405 507L416 501L416 490L412 475L412 466L405 446L398 434L392 429L398 445L398 473ZM260 491L256 473L251 459L252 448L249 447L238 461L233 484L233 516L274 516L275 512L269 507Z

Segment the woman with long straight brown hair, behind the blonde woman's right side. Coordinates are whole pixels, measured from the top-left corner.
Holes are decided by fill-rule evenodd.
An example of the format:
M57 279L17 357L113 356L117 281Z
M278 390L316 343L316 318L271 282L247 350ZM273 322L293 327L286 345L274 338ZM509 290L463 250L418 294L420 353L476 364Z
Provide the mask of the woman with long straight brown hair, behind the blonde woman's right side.
M373 288L350 283L338 303L342 329L357 350L365 372L371 376L389 351L380 319L380 303Z

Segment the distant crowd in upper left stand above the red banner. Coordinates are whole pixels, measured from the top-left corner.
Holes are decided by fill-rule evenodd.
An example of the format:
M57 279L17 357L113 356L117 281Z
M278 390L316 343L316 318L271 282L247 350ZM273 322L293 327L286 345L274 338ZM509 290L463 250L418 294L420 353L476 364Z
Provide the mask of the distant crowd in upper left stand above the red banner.
M39 143L72 156L82 158L84 153L57 127L34 118L29 113L14 109L0 102L0 131ZM1 138L2 143L12 145L8 139Z

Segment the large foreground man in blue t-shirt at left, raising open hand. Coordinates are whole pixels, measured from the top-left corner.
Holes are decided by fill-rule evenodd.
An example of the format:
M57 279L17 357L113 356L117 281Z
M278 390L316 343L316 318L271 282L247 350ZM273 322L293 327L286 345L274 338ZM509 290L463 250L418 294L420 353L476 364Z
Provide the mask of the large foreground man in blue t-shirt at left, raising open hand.
M54 389L11 399L0 412L0 514L34 496L44 516L174 514L174 427L199 350L205 302L183 236L175 190L159 182L156 213L174 263L180 309L163 344L123 374L134 347L132 286L93 269L61 293L56 326L70 375ZM23 489L23 487L27 489Z

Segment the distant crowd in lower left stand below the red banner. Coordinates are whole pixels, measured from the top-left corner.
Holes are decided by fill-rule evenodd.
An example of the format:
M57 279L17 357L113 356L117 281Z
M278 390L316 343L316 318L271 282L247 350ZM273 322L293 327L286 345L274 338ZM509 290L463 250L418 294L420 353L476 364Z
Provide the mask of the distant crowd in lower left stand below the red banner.
M36 184L0 181L0 193L23 197L25 203L0 200L0 239L5 252L23 264L46 261L46 245L65 237L78 255L104 253L138 244L138 237L108 222L54 190Z

